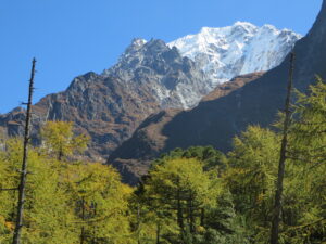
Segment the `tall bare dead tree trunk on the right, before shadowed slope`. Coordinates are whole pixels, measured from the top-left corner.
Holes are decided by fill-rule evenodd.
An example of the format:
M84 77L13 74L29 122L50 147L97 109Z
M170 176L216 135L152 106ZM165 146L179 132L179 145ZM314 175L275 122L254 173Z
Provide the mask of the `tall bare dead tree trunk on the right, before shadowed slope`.
M279 217L281 210L281 194L283 194L283 180L285 175L285 163L287 159L286 151L288 145L288 130L291 120L291 111L290 111L290 100L291 91L293 84L293 70L294 70L294 53L290 54L290 75L287 89L287 98L285 103L285 120L283 128L283 140L279 153L279 163L278 163L278 176L276 183L276 193L275 193L275 203L273 209L273 220L271 229L271 244L278 244L278 233L279 233Z

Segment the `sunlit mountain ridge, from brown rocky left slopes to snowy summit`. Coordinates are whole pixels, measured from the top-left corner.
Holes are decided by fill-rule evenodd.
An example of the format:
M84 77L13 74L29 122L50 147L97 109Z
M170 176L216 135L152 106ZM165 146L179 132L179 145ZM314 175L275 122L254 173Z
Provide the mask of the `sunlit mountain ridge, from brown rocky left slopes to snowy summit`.
M220 82L244 70L273 68L300 38L289 30L249 23L203 30L192 42L186 42L188 37L168 44L134 39L113 67L78 76L65 91L45 97L33 107L34 143L39 143L37 134L45 121L74 121L77 132L91 138L86 156L105 162L149 115L195 107ZM254 40L269 43L268 51L254 46ZM264 66L246 59L250 56L264 61ZM22 136L24 114L17 107L0 115L0 132Z

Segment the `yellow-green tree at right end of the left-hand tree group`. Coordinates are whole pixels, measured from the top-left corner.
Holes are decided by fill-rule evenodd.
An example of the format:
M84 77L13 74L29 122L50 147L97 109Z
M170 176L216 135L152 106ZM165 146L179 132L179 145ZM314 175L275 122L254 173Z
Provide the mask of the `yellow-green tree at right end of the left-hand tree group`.
M101 164L70 164L64 171L70 208L75 209L75 230L80 243L133 243L128 198L131 189L118 174Z

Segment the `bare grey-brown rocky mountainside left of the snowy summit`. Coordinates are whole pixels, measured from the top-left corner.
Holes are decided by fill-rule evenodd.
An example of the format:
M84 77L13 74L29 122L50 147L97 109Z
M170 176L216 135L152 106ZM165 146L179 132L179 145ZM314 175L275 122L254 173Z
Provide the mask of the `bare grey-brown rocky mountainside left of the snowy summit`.
M204 84L204 79L191 60L181 57L163 41L135 40L113 68L102 75L76 77L65 91L47 95L34 105L34 142L38 142L37 131L46 120L74 121L78 132L91 138L87 156L105 162L150 114L184 107L175 92L179 84L193 87L193 82ZM171 94L162 100L160 91L165 87ZM22 108L0 115L0 131L22 136L24 119Z

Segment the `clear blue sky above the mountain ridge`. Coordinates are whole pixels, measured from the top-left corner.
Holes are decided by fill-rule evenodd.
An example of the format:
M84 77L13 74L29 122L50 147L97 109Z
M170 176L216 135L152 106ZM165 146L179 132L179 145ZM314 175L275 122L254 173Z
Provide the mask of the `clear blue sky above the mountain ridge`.
M0 113L26 100L36 56L34 102L72 79L113 65L134 37L165 41L237 21L305 35L322 0L1 0Z

